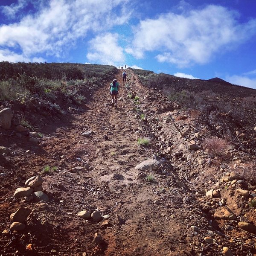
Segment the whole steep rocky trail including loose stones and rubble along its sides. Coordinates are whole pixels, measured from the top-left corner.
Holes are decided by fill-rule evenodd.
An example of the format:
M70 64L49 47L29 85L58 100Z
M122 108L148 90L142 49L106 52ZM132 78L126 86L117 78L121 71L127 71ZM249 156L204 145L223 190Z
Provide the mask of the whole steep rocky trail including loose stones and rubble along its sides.
M38 146L1 137L0 254L256 255L256 187L233 172L249 156L230 147L220 163L201 147L199 111L131 70L116 78L118 108L109 81L84 111L45 125Z

